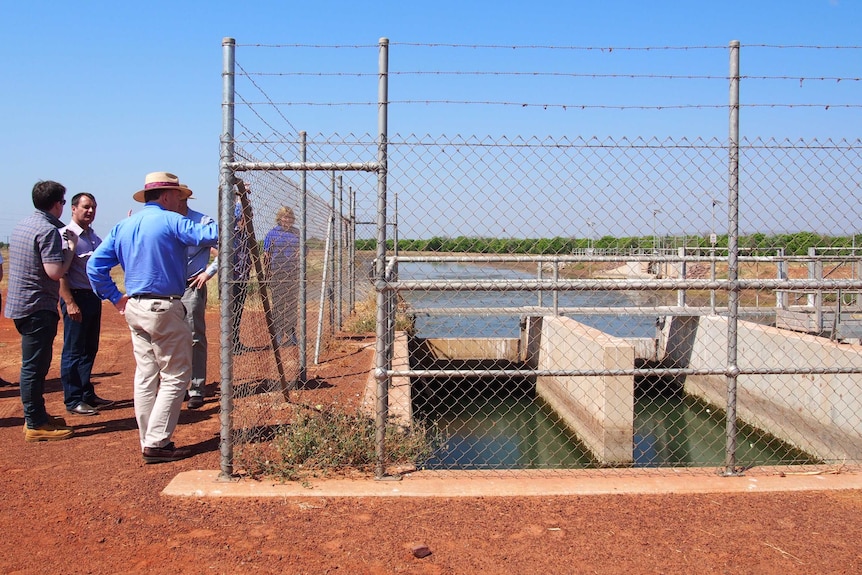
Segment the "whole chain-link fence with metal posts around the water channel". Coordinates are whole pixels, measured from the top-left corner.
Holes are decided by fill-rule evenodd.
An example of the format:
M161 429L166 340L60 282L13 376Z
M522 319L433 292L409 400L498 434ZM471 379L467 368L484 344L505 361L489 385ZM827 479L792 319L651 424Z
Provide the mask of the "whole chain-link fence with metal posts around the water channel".
M254 265L222 276L223 469L267 456L360 285L378 476L393 422L422 429L423 469L862 462L862 144L741 138L737 44L729 141L389 134L383 41L379 135L307 138L225 47L222 203ZM282 206L280 278L262 254Z

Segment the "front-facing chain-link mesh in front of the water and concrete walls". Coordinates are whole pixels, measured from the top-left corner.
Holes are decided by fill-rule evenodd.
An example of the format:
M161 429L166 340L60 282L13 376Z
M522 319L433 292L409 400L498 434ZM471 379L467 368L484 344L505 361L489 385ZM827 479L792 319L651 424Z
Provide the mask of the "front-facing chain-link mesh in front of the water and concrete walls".
M859 145L741 148L740 228L759 231L739 238L736 461L858 461L862 354L838 343L859 336L856 292L827 288L859 279ZM442 373L391 407L440 426L427 466L724 464L725 146L393 138L391 157L393 187L415 190L400 224L430 238L401 240L393 288L416 318L411 369ZM755 281L784 278L811 283Z

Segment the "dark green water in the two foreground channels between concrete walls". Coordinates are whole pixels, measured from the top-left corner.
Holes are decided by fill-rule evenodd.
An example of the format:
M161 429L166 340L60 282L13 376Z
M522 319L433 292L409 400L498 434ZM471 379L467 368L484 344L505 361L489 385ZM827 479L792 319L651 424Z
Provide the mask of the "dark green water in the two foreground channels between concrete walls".
M493 383L491 385L494 385ZM596 466L562 421L528 391L488 393L477 382L455 394L437 390L417 401L416 416L434 422L442 443L428 469L581 469ZM442 398L442 399L441 399ZM802 452L742 425L737 461L744 465L813 463ZM724 412L682 393L641 395L634 405L635 467L721 467Z

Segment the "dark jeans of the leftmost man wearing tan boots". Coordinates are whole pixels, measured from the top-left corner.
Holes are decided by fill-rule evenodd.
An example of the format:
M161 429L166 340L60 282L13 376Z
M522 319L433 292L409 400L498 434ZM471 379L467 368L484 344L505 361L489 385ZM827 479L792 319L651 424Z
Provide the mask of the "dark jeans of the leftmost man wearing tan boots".
M34 429L48 423L45 411L45 376L51 368L54 337L60 316L56 312L42 310L14 320L15 329L21 334L21 404L24 406L24 421Z

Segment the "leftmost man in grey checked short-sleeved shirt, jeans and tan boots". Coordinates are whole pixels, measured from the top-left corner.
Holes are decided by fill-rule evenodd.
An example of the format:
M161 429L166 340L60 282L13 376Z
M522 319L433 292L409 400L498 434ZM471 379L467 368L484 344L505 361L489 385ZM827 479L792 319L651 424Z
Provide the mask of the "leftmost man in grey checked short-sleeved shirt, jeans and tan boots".
M54 337L60 316L60 278L69 270L78 236L61 235L60 216L66 188L52 181L33 186L33 215L21 220L9 241L9 289L6 317L21 334L21 404L24 440L57 441L73 430L45 410L45 376L51 368Z

